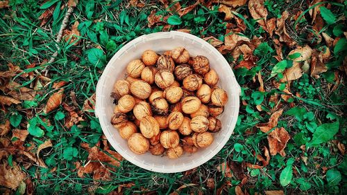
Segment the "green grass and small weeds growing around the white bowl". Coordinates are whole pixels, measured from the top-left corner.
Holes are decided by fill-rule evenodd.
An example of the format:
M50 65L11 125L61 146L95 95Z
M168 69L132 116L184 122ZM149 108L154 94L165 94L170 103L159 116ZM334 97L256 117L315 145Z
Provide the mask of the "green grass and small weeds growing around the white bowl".
M185 171L176 174L160 174L146 171L136 167L126 160L121 161L121 165L112 171L112 180L93 180L91 174L85 175L84 178L78 177L75 170L75 162L81 162L82 165L87 163L88 152L81 147L82 142L87 142L91 146L101 140L102 131L94 113L82 112L84 121L79 122L71 128L65 127L65 120L69 113L63 108L58 107L55 111L44 114L42 109L46 104L49 96L56 92L53 89L53 82L66 81L68 84L64 86L65 97L63 102L70 106L76 107L76 111L83 109L83 103L87 98L95 93L96 83L101 76L106 62L114 55L119 48L124 46L128 41L138 37L139 35L149 34L151 32L160 32L164 26L147 26L147 17L151 10L158 11L158 14L166 16L171 15L171 11L166 10L162 3L146 1L143 8L129 6L128 3L122 1L81 1L75 8L73 15L70 17L67 28L71 28L75 21L79 22L78 30L81 36L78 37L78 45L74 46L66 41L59 43L60 50L58 57L53 64L44 64L45 60L49 60L53 53L56 52L56 34L60 28L62 19L67 11L67 7L60 9L65 5L65 1L57 1L58 6L54 8L53 16L47 17L47 22L40 26L40 15L46 10L41 9L43 2L36 1L11 1L9 8L0 10L0 71L6 71L6 64L12 63L20 66L27 73L33 73L34 77L16 79L22 86L32 87L40 75L40 71L44 66L49 66L49 75L51 82L44 88L40 89L42 95L38 95L33 101L26 104L33 105L28 108L24 104L18 106L12 105L2 109L1 121L9 118L13 114L23 116L22 128L26 128L26 124L30 123L31 118L35 115L40 118L49 119L53 129L51 131L40 126L45 131L42 137L28 136L24 145L42 144L45 140L51 139L53 147L44 149L41 153L47 168L31 166L28 169L22 167L23 171L31 176L31 180L35 186L36 194L85 194L95 191L101 194L107 194L113 190L121 189L124 194L158 192L158 194L168 194L174 192L183 185L194 184L180 190L181 193L198 194L217 194L235 193L235 187L241 183L242 178L237 175L237 171L241 171L248 177L248 183L242 187L248 193L262 192L268 190L283 190L285 194L344 194L347 191L346 183L346 158L339 152L337 146L332 140L337 140L346 145L346 86L344 84L345 75L338 70L339 66L332 64L326 73L323 73L319 79L314 79L310 75L304 75L291 85L292 93L301 93L301 97L291 98L289 102L282 102L283 109L288 111L291 109L291 103L295 107L305 108L306 112L312 112L314 118L307 120L303 115L285 115L283 114L279 120L278 127L285 127L291 136L285 152L287 156L282 157L279 154L271 156L269 165L262 169L251 169L246 167L237 167L232 169L234 175L232 178L226 177L221 169L222 163L230 165L231 162L248 162L255 164L258 162L255 157L257 154L264 154L262 147L268 146L266 133L262 133L255 125L259 122L267 122L269 120L269 111L275 106L269 102L269 97L274 93L282 93L279 89L271 85L271 80L266 81L271 74L273 66L278 62L273 58L276 55L275 43L271 37L265 38L262 42L266 43L270 49L265 53L258 48L260 53L257 55L257 66L247 70L239 68L234 70L237 80L242 85L241 100L248 105L241 104L239 112L239 120L235 133L230 138L219 153L214 156L208 163L197 167L192 171ZM189 6L189 1L181 1L181 5ZM345 3L346 4L346 3ZM56 6L54 3L53 6ZM298 5L303 5L298 7ZM182 24L171 26L168 30L189 29L193 35L198 37L214 36L217 39L224 40L226 31L226 22L223 21L223 14L217 11L218 4L213 4L214 10L198 5L194 10L182 17ZM280 17L283 11L288 12L303 11L306 12L309 6L305 1L294 1L287 3L286 1L266 1L266 8L269 10L268 18ZM344 16L346 7L332 5L332 12L335 16ZM264 30L252 19L247 6L240 6L235 10L235 15L244 17L247 37L267 35ZM307 13L303 17L310 18ZM344 16L345 17L345 16ZM316 44L307 39L306 33L312 30L311 21L295 21L298 22L301 29L305 29L305 33L295 33L296 23L287 24L291 29L294 40L299 45L309 44L312 48L318 48L325 45L324 41ZM332 35L335 26L344 25L343 19L339 19L330 26L325 26L325 32ZM343 27L346 31L346 27ZM336 36L335 36L336 37ZM339 37L343 37L339 35ZM317 38L317 37L316 37ZM90 54L90 49L101 48L101 55L97 55L97 61L92 59L95 56ZM291 48L283 46L283 56L287 57ZM256 52L255 52L256 53ZM256 54L255 54L256 55ZM346 53L332 55L329 63L337 62L341 65L343 57ZM239 62L232 62L230 55L226 55L226 59L232 66ZM31 63L35 63L34 68L26 68ZM264 80L265 93L261 93L262 108L264 111L257 111L257 100L255 91L259 87L257 82L253 82L253 77L261 71ZM337 86L335 91L331 91L331 87L336 84L334 80L335 73L340 75L342 82ZM275 78L278 80L278 77ZM330 86L330 87L328 87ZM3 95L0 92L0 95ZM257 94L259 95L259 94ZM262 98L260 97L260 98ZM268 111L268 112L266 112ZM55 116L58 112L62 112L64 117L56 120ZM339 121L339 133L332 140L323 142L320 145L311 147L302 151L301 145L312 140L313 132L307 129L307 123L314 123L317 126ZM74 128L74 130L72 130ZM251 132L251 133L249 133ZM298 136L299 135L299 136ZM301 136L301 137L300 137ZM303 143L301 143L303 142ZM237 147L235 147L237 145ZM241 145L242 147L239 147ZM77 154L68 154L67 149L76 149ZM254 154L253 154L254 153ZM17 157L19 159L19 157ZM307 163L303 159L307 158ZM291 159L295 174L287 187L280 184L280 174L287 166L286 163ZM16 159L15 159L16 160ZM319 167L317 167L319 165ZM56 171L51 171L56 167ZM339 171L340 178L337 184L329 183L327 174L322 169ZM338 174L337 174L338 175ZM336 174L333 176L338 177ZM342 176L341 176L342 175ZM209 180L214 181L214 187L208 187ZM129 187L126 184L132 183ZM307 184L308 183L308 184ZM310 185L309 189L305 186ZM0 189L1 192L2 189ZM18 190L17 190L18 192Z

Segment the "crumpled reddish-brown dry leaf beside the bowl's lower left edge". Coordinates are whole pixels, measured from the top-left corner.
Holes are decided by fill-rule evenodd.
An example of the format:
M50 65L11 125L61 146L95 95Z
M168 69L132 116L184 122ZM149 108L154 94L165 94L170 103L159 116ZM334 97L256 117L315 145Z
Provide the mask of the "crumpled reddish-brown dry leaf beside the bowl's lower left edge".
M84 174L93 173L94 180L111 180L110 170L115 171L115 167L119 167L122 157L117 152L108 149L108 145L104 145L103 150L110 155L100 151L99 146L100 142L92 148L87 143L81 144L81 147L89 152L87 158L89 161L83 167L78 168L79 177L83 178Z

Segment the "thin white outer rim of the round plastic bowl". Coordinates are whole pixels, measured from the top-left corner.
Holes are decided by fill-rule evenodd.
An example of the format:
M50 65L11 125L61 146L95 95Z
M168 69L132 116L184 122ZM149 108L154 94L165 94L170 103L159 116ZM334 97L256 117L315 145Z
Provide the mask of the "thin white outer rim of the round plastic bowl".
M228 129L229 131L227 131L226 133L226 137L223 142L221 142L220 145L218 145L212 152L210 152L210 154L208 154L207 156L205 156L205 158L201 158L201 160L195 161L194 163L191 164L185 164L185 166L181 166L181 167L172 167L171 169L169 168L163 168L163 167L151 167L148 166L146 164L144 164L143 162L141 162L140 160L134 159L132 156L130 156L129 154L127 154L126 152L124 152L124 150L120 149L118 147L118 145L116 144L116 142L111 142L110 140L113 140L112 135L110 134L110 131L108 131L108 127L109 125L106 125L106 122L109 123L109 120L105 121L104 117L101 117L102 115L105 115L105 113L102 111L101 106L102 105L102 100L103 97L105 97L105 95L100 95L102 88L103 88L103 84L105 82L105 80L107 79L107 77L105 76L105 72L107 71L111 71L110 69L110 64L114 63L117 59L119 59L119 56L121 55L121 53L126 52L126 50L128 50L128 48L131 48L133 45L138 44L139 42L144 42L146 40L153 40L153 39L158 39L158 37L160 38L174 38L175 36L180 36L180 37L189 37L189 39L193 39L194 41L198 41L201 44L203 44L204 47L208 47L210 50L212 50L214 53L217 53L217 56L220 57L221 60L221 64L222 66L228 66L228 71L231 76L231 80L234 80L235 84L237 84L235 86L235 88L237 89L237 93L235 95L235 103L233 106L233 109L235 109L235 113L239 113L239 95L241 94L241 88L239 86L239 84L237 83L237 80L235 78L234 73L232 72L232 68L230 68L229 63L226 61L226 59L223 57L223 55L221 55L221 53L219 53L219 51L214 48L214 46L212 46L211 44L209 44L207 41L201 39L200 37L196 37L195 35L186 33L186 32L178 32L178 31L174 31L171 30L169 32L154 32L148 35L142 35L139 36L135 39L133 39L132 41L129 41L128 44L125 44L122 48L120 48L115 55L113 55L113 57L110 59L110 61L108 62L108 64L105 66L105 69L103 70L103 73L98 81L98 83L96 84L96 102L95 102L95 116L96 118L99 118L99 122L101 125L101 129L103 130L104 135L106 136L106 138L109 140L110 144L112 145L112 147L126 160L128 160L130 163L133 163L134 165L137 165L137 167L141 167L143 169L149 170L149 171L155 171L155 172L160 172L160 173L176 173L176 172L181 172L181 171L187 171L189 169L194 169L195 167L198 167L200 165L203 165L204 163L206 163L208 160L210 160L211 158L213 158L216 154L219 153L219 151L221 151L221 149L226 145L226 143L228 142L228 140L230 139L230 136L232 135L234 129L235 129L235 125L237 120L231 120L230 124L228 124Z

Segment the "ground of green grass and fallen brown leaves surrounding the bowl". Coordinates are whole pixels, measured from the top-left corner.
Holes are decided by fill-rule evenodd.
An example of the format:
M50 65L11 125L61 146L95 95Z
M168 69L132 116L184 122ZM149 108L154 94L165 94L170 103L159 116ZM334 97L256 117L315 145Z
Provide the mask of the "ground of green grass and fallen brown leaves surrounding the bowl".
M345 194L346 6L0 1L0 192ZM94 93L117 50L169 30L216 47L242 94L234 133L214 158L160 174L108 146Z

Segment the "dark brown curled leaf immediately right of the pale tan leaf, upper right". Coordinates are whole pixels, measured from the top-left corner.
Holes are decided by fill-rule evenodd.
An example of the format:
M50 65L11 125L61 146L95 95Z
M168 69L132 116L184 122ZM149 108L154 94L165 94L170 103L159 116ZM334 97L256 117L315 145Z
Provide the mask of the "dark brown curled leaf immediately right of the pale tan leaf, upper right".
M323 48L324 47L324 48ZM330 57L330 50L328 47L323 46L321 52L313 50L311 59L311 77L319 78L320 73L328 71L328 67L325 66L325 62Z

